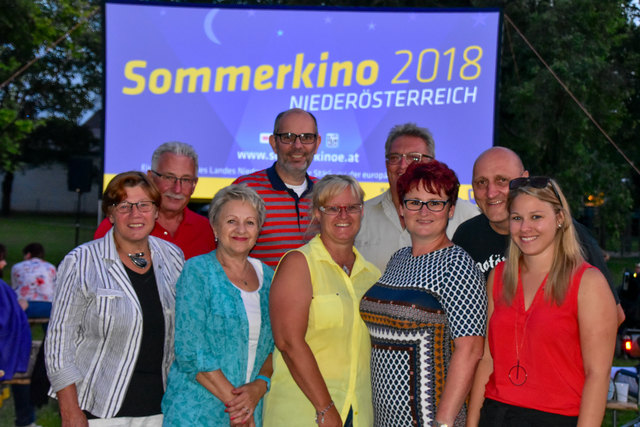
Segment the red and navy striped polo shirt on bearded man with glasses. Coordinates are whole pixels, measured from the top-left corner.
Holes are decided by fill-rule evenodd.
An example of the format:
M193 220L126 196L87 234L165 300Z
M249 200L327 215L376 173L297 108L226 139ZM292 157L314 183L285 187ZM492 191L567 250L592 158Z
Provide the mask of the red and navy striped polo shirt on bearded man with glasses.
M301 197L288 188L276 172L275 163L268 169L244 175L234 184L246 184L264 200L267 217L251 251L251 256L276 268L286 252L306 244L313 236L307 235L311 191L315 178L306 176L307 189Z

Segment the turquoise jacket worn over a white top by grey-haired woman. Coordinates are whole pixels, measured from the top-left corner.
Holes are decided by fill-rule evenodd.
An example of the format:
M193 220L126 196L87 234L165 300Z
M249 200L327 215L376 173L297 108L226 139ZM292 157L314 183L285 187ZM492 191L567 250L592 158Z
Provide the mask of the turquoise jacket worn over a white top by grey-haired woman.
M273 270L261 266L260 338L252 380L273 351L268 306ZM164 425L229 425L224 404L196 381L196 374L221 369L234 386L245 384L248 344L249 322L240 290L227 278L215 251L189 259L176 284L176 358L162 400ZM262 425L262 401L255 421Z

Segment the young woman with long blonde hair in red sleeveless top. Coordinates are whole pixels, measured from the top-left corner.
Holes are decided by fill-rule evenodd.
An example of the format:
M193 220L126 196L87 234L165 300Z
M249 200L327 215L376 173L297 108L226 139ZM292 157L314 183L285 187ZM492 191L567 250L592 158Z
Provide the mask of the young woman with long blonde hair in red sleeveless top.
M617 326L613 296L584 261L557 183L522 177L509 188L511 241L487 280L488 338L468 425L600 426Z

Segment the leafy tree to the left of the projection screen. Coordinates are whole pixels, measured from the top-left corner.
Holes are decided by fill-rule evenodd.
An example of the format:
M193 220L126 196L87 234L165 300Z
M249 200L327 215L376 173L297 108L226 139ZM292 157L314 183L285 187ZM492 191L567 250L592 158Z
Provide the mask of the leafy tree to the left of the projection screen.
M0 14L2 212L28 136L47 118L76 122L102 87L97 0L15 0ZM68 37L64 37L68 34ZM58 44L56 44L58 43ZM53 46L50 50L47 48Z

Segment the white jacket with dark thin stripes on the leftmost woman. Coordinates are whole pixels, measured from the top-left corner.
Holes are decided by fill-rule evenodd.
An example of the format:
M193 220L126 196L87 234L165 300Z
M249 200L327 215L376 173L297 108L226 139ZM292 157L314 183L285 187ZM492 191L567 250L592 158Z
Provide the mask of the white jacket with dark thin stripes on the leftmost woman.
M149 248L164 314L166 388L174 358L175 286L184 255L153 236ZM115 416L140 353L142 325L140 303L118 256L113 229L72 250L58 269L45 340L51 395L75 384L81 409L100 418Z

